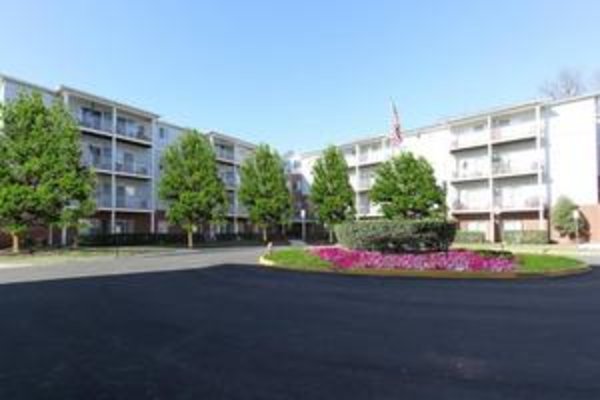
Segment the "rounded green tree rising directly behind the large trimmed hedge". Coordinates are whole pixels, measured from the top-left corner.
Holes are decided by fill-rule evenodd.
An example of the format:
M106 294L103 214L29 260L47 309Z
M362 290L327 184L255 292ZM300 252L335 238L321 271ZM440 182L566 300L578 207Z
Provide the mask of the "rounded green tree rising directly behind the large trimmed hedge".
M403 152L383 163L369 196L386 218L428 218L445 215L444 190L423 157Z

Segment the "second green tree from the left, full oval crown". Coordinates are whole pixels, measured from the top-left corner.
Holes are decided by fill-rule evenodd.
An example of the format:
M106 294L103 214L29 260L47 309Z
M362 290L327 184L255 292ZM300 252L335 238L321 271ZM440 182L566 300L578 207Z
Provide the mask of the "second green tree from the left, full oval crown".
M198 226L221 221L227 207L215 153L200 132L190 130L167 148L161 163L159 196L167 202L167 219L187 232L191 248Z

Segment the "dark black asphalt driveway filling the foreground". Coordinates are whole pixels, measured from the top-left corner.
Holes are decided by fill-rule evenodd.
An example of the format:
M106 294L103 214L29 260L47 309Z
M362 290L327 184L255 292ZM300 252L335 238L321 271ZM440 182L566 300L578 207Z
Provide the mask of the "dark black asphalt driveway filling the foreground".
M0 285L0 399L597 399L600 271L222 265Z

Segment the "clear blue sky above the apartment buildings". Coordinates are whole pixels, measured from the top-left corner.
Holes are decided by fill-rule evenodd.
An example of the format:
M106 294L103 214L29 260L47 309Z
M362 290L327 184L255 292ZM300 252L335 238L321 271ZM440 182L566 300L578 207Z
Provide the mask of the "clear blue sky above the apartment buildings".
M600 67L600 2L0 0L0 71L279 150L537 96Z

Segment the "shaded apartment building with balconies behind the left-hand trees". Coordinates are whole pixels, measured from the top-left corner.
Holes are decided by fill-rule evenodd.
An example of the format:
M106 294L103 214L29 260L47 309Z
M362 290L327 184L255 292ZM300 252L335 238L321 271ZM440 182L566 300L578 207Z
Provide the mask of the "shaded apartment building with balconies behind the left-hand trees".
M0 102L21 92L38 91L44 102L63 101L79 124L82 161L97 176L96 214L90 233L145 233L172 230L166 206L157 195L160 159L177 140L183 127L158 114L67 86L53 90L0 75ZM211 226L215 233L242 233L251 229L247 212L239 204L240 163L255 146L217 132L207 134L217 155L219 174L226 185L230 207L226 222Z

